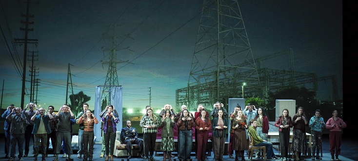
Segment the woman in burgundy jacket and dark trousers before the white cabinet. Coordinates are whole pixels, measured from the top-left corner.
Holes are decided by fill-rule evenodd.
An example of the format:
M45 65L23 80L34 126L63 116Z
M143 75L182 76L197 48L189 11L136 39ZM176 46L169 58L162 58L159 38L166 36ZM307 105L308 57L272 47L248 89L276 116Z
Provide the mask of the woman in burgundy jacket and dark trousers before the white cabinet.
M281 150L282 161L287 161L288 146L290 144L290 128L292 127L292 119L288 115L288 109L283 109L281 116L278 117L276 123L278 128L279 146Z

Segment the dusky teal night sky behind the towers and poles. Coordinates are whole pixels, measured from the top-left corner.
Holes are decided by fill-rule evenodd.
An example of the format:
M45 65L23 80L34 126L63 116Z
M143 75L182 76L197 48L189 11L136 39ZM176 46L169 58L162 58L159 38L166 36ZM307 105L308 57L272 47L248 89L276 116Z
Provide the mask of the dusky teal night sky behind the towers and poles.
M37 0L31 4L35 18L30 39L38 39L35 66L39 68L38 105L65 102L68 63L74 93L92 97L95 87L104 85L108 59L103 52L110 44L109 25L118 24L119 84L123 86L123 107L144 109L152 87L154 108L175 106L175 90L187 86L202 0ZM1 0L0 80L4 80L2 107L20 106L21 78L13 65L11 39L23 39L20 13L26 4ZM239 1L254 58L293 49L295 70L336 75L339 98L342 90L342 2L339 0L243 0ZM5 38L5 39L4 39ZM15 46L23 60L23 46ZM29 61L28 61L29 62ZM28 66L30 64L28 63ZM268 60L261 67L289 69L288 56ZM22 66L20 66L22 69ZM29 70L29 69L28 69ZM29 72L26 74L29 75ZM30 77L28 77L29 79ZM27 89L29 90L29 83ZM318 84L317 100L333 99L331 82ZM2 87L1 87L2 89ZM25 104L29 97L25 96Z

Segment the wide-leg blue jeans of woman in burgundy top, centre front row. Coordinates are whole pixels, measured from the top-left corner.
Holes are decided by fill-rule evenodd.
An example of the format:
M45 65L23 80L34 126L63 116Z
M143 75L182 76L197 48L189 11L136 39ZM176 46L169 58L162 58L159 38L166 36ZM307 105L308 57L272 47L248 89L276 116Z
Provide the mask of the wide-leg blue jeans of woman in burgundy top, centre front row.
M178 144L178 159L190 159L190 153L193 144L193 137L191 130L179 130L179 144Z

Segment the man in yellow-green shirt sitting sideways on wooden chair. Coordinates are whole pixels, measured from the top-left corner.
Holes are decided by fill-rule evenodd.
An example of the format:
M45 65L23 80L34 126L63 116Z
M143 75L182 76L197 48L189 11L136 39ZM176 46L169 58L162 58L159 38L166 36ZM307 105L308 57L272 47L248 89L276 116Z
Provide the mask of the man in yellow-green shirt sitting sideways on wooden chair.
M256 133L256 120L250 120L250 124L251 125L247 129L247 132L250 136L252 136L254 146L266 146L266 159L278 159L278 157L275 156L274 149L272 148L272 143L262 140L260 136L258 136L258 133Z

